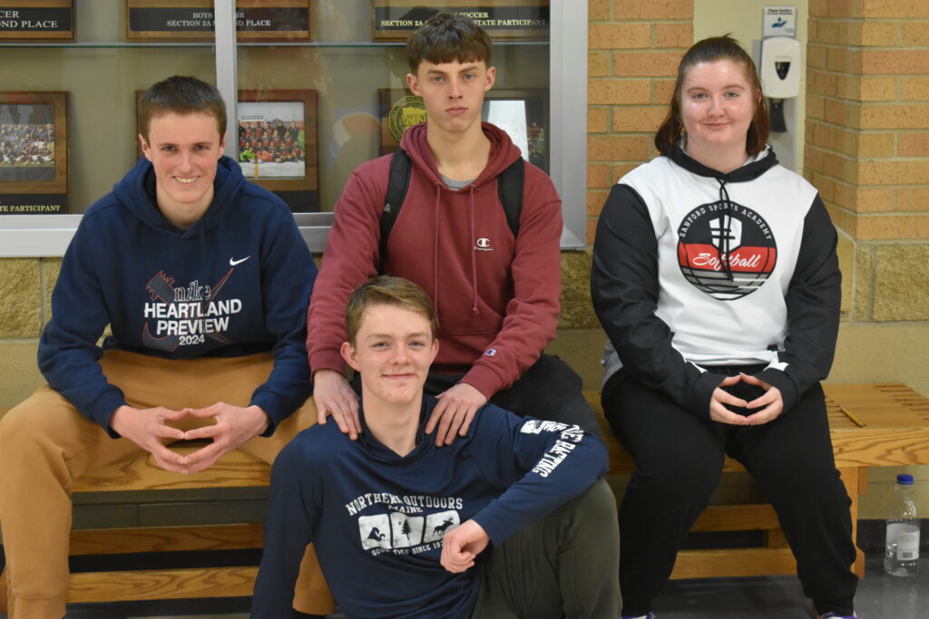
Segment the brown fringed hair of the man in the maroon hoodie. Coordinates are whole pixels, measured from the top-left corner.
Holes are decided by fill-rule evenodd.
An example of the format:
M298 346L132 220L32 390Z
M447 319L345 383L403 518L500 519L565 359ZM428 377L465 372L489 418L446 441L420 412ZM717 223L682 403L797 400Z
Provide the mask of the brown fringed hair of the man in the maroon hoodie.
M479 62L490 66L493 43L484 29L471 19L442 12L426 19L407 39L407 61L415 73L423 60Z

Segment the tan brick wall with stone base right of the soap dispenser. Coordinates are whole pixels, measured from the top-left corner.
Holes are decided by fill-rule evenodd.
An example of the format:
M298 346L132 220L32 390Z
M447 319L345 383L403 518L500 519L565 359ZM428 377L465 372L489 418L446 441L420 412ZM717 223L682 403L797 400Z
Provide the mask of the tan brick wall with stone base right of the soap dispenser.
M927 320L929 3L810 0L807 68L804 174L854 243L849 318Z

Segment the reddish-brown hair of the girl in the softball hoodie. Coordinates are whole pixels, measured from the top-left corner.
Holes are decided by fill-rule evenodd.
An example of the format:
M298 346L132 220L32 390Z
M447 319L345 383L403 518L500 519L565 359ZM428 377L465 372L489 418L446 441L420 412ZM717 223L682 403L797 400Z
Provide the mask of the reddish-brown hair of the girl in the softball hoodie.
M677 65L677 81L674 82L674 93L668 106L668 115L664 118L658 131L655 132L655 148L662 155L669 156L674 150L677 141L684 135L684 123L681 122L681 88L687 71L701 62L715 62L716 60L731 60L742 65L745 78L752 84L752 95L756 97L754 117L746 133L745 150L749 155L755 155L765 149L767 135L771 123L767 116L767 102L762 95L761 80L755 68L752 57L749 56L739 42L728 34L713 36L695 43L681 62Z

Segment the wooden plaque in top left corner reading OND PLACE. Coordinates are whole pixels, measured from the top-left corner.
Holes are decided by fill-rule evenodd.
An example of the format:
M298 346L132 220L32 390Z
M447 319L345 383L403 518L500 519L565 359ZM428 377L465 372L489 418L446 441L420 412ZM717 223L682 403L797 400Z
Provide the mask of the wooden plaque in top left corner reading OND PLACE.
M74 0L0 1L0 43L74 40Z

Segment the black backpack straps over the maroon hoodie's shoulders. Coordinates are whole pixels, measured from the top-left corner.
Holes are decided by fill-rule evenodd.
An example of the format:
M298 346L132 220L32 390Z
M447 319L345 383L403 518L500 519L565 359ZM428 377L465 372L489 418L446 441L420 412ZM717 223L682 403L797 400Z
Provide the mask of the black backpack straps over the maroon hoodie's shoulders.
M384 273L384 264L387 254L387 237L394 227L403 202L406 200L407 190L410 188L412 174L412 160L407 151L398 148L390 158L390 179L387 182L387 195L384 199L384 211L381 213L381 268ZM497 176L497 195L504 207L506 224L513 231L513 236L519 234L519 213L522 211L523 179L525 164L522 157L513 161L499 176Z

